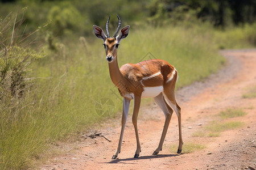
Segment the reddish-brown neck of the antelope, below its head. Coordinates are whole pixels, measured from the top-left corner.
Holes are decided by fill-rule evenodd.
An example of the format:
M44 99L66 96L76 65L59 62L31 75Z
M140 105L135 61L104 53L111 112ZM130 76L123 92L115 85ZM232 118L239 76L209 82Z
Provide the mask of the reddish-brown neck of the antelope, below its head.
M125 84L127 80L123 77L121 71L119 70L117 57L115 57L115 59L109 63L109 74L115 86L122 89L123 84Z

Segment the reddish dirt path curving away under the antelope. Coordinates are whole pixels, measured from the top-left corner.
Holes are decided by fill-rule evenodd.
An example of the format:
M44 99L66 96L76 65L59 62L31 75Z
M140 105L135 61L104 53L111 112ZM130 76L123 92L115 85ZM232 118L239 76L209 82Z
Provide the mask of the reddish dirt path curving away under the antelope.
M111 158L117 147L121 120L111 120L104 127L112 128L102 128L101 131L112 142L102 137L81 138L75 150L49 160L39 169L256 168L256 98L242 97L251 87L256 86L256 50L230 50L222 53L228 57L225 69L204 82L177 91L177 101L182 108L184 144L192 142L205 145L203 150L180 155L170 151L171 145L178 146L179 139L177 117L173 114L163 151L159 155L152 155L164 125L164 114L153 104L140 111L138 129L142 152L138 159L133 158L136 140L131 118L128 118L118 159ZM223 131L219 137L192 135L204 130L211 121L219 120L216 114L226 108L241 108L247 112L246 116L224 120L244 122L242 128Z

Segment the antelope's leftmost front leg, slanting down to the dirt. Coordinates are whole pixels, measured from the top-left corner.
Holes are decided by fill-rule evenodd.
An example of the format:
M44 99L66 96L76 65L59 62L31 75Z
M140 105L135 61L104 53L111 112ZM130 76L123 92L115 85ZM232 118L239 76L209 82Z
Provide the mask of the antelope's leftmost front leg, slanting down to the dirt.
M123 98L122 129L121 129L121 133L120 133L118 147L117 147L117 150L115 151L115 154L112 156L112 159L117 158L117 155L121 151L121 145L122 145L122 139L123 139L123 131L125 131L125 124L126 124L126 120L127 120L127 117L128 117L130 101L131 100Z

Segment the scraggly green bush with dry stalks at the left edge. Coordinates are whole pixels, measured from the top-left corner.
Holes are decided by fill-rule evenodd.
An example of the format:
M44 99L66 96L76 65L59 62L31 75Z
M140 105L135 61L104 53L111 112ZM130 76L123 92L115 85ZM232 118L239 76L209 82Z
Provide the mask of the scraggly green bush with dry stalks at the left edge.
M3 81L6 75L9 75L11 78L11 95L21 95L24 89L26 89L25 80L28 65L35 58L40 58L40 54L31 50L28 46L20 46L33 33L22 35L21 37L17 35L23 22L23 16L19 22L16 21L19 19L17 16L11 18L9 15L0 22L0 84L4 84ZM11 24L12 22L14 22L14 25Z

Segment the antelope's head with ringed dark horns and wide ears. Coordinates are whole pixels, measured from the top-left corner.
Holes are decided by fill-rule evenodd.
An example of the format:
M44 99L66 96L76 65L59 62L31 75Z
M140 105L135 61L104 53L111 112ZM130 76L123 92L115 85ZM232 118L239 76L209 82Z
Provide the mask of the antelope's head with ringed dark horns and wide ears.
M129 33L129 29L130 26L127 25L125 27L123 27L119 33L119 35L117 36L117 33L119 32L119 29L121 27L121 20L119 18L119 16L117 15L118 18L118 27L117 27L117 31L115 31L113 38L109 36L109 19L110 19L110 15L109 15L109 19L106 23L106 34L104 33L104 31L98 27L97 25L93 25L93 30L95 35L99 38L102 39L104 41L104 48L106 50L106 60L108 62L112 62L116 57L117 57L117 48L118 45L121 41L121 39L124 39L125 37L127 37L128 33Z

